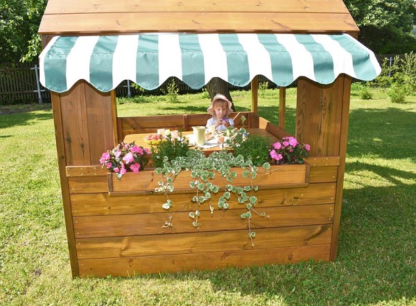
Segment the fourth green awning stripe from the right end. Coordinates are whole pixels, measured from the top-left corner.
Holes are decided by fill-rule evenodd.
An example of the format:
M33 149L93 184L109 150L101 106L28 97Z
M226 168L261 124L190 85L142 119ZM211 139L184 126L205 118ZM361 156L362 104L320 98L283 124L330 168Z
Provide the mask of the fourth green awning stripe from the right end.
M236 34L219 34L220 43L227 56L228 83L245 86L250 83L248 56Z

